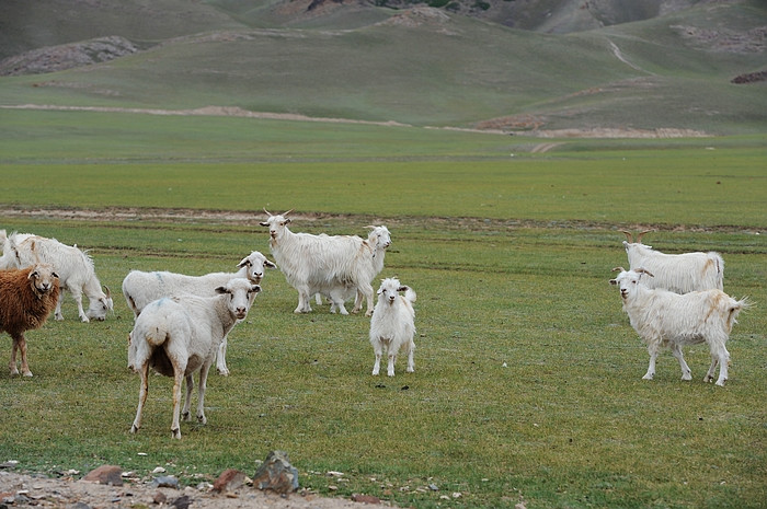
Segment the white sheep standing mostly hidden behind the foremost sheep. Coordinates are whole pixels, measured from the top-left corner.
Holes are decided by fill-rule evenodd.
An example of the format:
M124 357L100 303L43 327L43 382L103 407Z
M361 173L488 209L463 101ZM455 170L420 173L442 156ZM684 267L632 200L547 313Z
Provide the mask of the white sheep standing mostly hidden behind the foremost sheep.
M168 271L145 273L130 270L123 279L123 296L134 312L135 316L150 302L162 297L173 297L182 293L192 293L199 297L214 297L216 289L234 278L247 278L254 285L259 285L264 277L265 267L276 268L266 256L253 251L237 264L236 273L210 273L204 276L186 276ZM224 337L216 356L216 369L225 377L229 374L227 368L227 337Z

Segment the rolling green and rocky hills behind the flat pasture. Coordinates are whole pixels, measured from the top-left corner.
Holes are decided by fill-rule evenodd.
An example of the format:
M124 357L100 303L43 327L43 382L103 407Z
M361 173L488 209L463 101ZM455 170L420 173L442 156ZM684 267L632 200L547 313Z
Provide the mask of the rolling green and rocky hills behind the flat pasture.
M767 127L763 2L431 3L8 0L0 105L215 106L537 136Z

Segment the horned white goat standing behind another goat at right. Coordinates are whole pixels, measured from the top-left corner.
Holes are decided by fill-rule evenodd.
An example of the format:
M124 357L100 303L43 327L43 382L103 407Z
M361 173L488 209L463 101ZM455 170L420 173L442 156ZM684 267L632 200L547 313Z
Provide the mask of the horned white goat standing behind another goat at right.
M655 275L650 281L643 281L648 288L662 288L676 293L724 289L724 261L719 253L661 253L642 244L642 235L649 231L639 233L636 242L631 232L623 232L628 240L623 241L623 247L629 268L641 267Z

